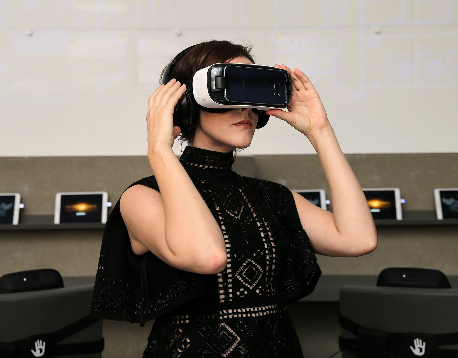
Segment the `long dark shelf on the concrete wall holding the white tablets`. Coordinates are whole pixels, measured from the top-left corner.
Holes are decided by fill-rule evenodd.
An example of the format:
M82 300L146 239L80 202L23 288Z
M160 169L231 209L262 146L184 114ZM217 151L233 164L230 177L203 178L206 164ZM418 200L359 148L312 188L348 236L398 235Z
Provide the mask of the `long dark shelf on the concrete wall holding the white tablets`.
M437 220L433 210L404 211L403 220L375 220L376 226L458 225L458 219ZM54 224L54 215L22 215L18 225L0 224L5 230L77 230L103 229L100 222Z

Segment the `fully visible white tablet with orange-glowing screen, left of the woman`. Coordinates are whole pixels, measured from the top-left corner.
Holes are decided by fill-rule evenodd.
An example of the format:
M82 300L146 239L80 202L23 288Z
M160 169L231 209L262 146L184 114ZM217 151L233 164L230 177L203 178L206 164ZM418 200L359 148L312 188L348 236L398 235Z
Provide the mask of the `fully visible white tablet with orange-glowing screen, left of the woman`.
M54 223L107 222L108 193L106 191L83 191L57 193Z

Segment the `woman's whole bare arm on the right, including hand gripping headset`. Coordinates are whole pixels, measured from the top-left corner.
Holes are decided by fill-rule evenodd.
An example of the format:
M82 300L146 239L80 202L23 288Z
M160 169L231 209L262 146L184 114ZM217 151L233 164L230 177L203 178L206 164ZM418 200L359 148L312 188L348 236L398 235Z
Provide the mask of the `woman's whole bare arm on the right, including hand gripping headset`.
M297 68L291 74L293 98L289 112L271 109L308 137L320 157L333 199L333 213L322 210L294 193L300 221L316 253L328 256L360 256L376 249L377 233L369 206L329 124L320 96Z

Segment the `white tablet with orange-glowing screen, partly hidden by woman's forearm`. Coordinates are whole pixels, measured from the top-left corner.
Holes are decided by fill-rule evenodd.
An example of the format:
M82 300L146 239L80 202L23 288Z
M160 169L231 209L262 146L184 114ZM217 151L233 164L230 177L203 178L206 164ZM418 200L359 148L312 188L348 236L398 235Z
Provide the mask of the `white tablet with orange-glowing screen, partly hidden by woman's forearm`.
M399 188L363 188L374 219L402 220Z

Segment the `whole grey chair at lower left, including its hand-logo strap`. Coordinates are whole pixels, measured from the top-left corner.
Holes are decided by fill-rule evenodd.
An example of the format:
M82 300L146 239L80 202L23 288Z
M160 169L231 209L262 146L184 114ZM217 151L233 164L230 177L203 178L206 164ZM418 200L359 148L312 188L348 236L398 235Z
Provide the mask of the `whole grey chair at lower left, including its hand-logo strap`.
M88 317L93 288L0 294L0 357L100 358L102 320Z

